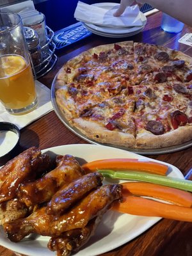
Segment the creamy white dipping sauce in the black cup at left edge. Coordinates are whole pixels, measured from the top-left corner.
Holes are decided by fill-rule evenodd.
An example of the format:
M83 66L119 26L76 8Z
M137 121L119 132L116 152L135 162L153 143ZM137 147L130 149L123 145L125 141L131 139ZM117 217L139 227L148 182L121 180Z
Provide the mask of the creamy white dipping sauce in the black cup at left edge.
M19 136L12 131L0 131L0 157L4 156L17 144Z

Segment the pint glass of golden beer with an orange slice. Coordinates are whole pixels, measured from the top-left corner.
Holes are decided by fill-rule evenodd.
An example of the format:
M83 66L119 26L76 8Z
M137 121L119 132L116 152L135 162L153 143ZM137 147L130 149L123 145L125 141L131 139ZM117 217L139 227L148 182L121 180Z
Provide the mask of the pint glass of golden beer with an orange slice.
M13 115L37 106L24 29L17 13L0 12L0 101Z

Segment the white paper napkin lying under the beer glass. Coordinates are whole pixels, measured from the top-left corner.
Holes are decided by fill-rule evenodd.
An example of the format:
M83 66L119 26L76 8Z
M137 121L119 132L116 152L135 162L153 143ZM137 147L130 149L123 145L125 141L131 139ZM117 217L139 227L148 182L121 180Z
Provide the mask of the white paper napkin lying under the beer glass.
M19 129L22 129L31 122L37 120L46 113L49 113L52 108L51 103L51 91L44 84L39 81L35 81L36 84L36 94L38 97L38 107L33 111L25 115L11 115L8 113L2 104L0 104L0 121L1 122L11 122Z

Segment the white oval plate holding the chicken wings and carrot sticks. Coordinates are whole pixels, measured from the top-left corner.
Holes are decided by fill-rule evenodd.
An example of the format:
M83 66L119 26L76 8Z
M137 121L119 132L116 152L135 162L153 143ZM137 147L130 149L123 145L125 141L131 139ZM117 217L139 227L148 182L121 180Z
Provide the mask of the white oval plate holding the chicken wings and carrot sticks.
M112 157L147 159L147 157L143 157L126 150L89 144L63 145L60 147L47 148L42 150L42 152L48 152L50 155L71 154L77 157L77 161L79 161L79 163ZM168 164L168 166L168 176L182 179L184 178L178 168L171 164ZM134 239L134 237L139 236L159 220L161 220L161 218L134 216L108 211L106 214L104 214L102 222L97 228L95 235L90 239L90 241L88 241L82 250L76 253L76 256L94 256L113 250L118 246L131 241ZM5 236L3 229L1 228L0 230L0 244L2 246L14 252L23 253L29 256L56 255L56 253L51 252L47 248L48 241L49 237L38 236L36 239L25 238L19 243L12 243Z

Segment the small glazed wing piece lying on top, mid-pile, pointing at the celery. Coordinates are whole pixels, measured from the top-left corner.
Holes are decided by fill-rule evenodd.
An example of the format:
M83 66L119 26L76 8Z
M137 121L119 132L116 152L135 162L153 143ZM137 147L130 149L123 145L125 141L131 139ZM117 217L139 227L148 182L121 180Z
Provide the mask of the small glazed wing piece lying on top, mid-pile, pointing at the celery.
M77 200L81 199L86 193L93 188L102 185L102 174L88 173L79 179L74 180L70 184L64 185L54 196L47 205L48 214L61 214L66 211L70 205L74 204Z

